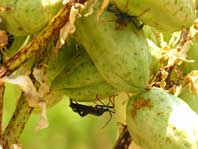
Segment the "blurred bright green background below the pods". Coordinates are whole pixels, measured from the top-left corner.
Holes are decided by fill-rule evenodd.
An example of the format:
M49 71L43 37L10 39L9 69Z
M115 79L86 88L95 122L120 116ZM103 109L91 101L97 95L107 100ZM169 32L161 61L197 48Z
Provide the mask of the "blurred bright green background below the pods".
M4 126L9 122L20 94L16 86L7 84L6 87ZM20 139L23 149L111 149L120 127L117 118L113 116L108 125L102 128L110 118L109 113L101 117L92 115L80 117L69 107L69 99L66 96L57 105L48 109L47 116L49 127L37 132L35 128L39 114L31 115Z

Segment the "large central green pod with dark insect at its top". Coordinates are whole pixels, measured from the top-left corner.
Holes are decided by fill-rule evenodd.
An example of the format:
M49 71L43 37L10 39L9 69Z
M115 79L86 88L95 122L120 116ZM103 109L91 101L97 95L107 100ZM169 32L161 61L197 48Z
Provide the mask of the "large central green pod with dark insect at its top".
M95 11L96 12L96 11ZM105 11L76 21L76 35L101 76L121 91L144 90L149 79L150 53L141 29L129 23L115 28L116 16Z

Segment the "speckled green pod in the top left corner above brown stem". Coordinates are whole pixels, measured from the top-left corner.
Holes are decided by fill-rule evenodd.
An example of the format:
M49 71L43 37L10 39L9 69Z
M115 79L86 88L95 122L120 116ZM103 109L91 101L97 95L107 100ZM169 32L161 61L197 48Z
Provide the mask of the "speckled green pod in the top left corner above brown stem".
M1 0L8 8L0 13L6 30L16 36L40 31L62 6L62 0Z

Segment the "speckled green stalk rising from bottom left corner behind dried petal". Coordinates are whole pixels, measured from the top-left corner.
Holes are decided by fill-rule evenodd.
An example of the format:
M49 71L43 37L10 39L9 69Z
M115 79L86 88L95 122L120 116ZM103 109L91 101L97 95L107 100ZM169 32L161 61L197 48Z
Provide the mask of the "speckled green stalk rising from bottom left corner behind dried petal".
M47 64L49 55L51 54L51 49L53 48L54 40L51 40L44 49L40 49L37 55L38 58L35 59L31 65L28 65L28 69L31 70L30 78L37 89L40 87L40 84L37 82L33 75L33 69L38 65ZM6 149L9 149L13 144L18 144L20 136L31 116L33 109L33 107L29 106L26 96L22 94L19 98L15 112L10 122L8 123L8 126L3 132L3 146Z

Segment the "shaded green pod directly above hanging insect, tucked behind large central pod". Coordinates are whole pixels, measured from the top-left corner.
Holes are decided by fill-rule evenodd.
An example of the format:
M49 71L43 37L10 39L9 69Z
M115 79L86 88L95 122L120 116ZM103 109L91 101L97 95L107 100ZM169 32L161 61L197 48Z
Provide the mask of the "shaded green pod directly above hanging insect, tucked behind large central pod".
M118 93L100 76L84 49L53 80L51 94L56 92L78 101L103 99Z

